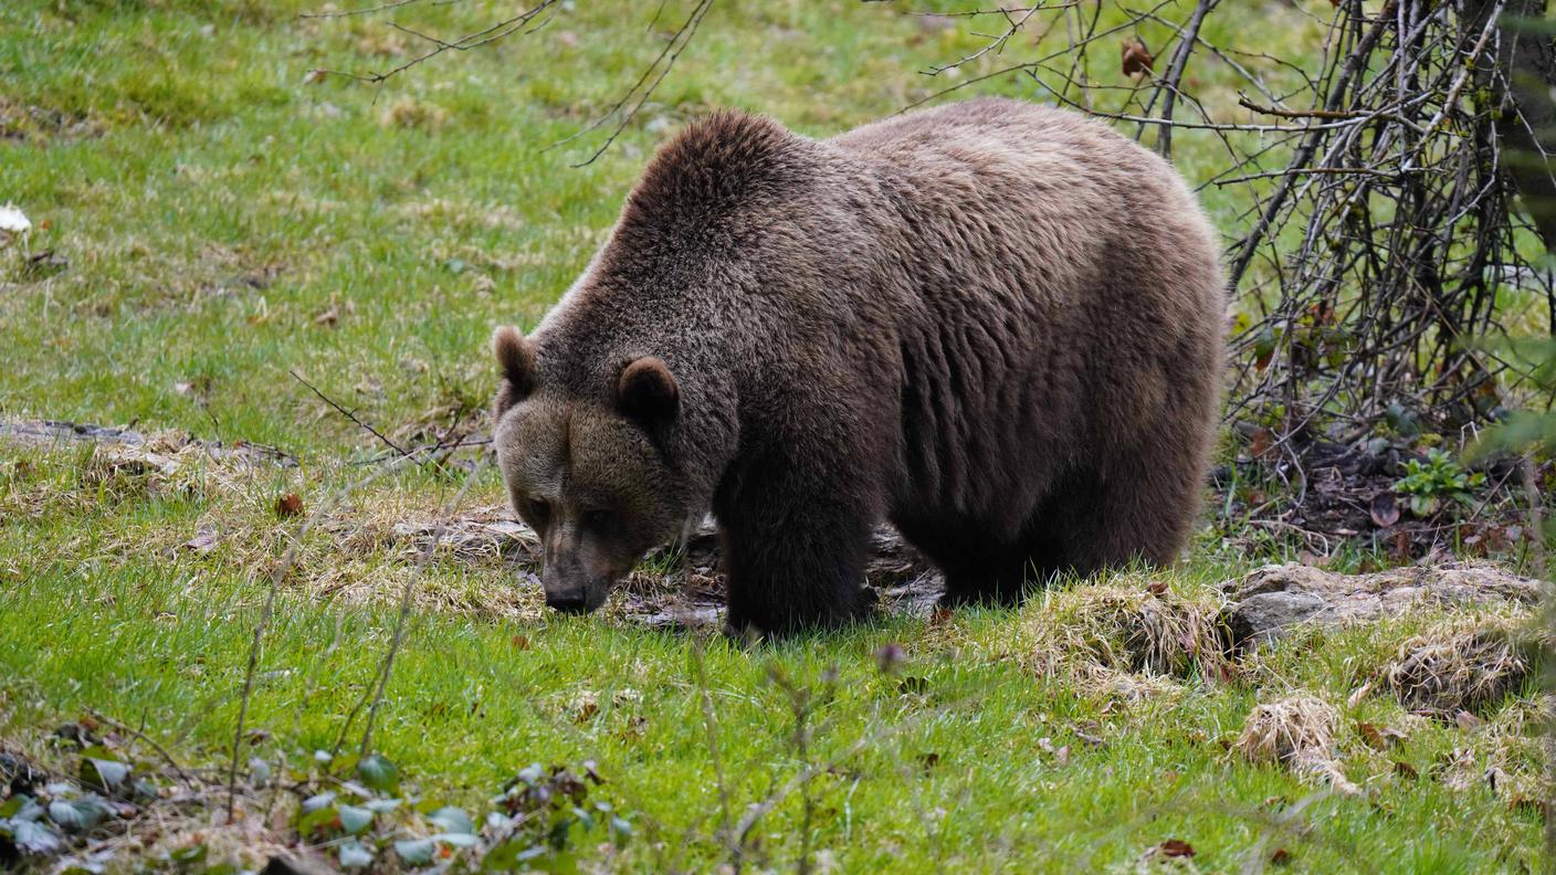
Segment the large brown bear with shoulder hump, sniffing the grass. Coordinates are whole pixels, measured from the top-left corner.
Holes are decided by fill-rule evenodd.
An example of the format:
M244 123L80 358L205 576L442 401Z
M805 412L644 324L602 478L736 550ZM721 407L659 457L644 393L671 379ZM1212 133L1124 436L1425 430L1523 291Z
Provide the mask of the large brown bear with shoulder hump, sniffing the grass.
M946 603L1010 603L1173 559L1223 310L1195 198L1100 123L974 100L811 140L717 112L532 336L498 329L498 462L562 610L710 509L733 629L865 612L881 520Z

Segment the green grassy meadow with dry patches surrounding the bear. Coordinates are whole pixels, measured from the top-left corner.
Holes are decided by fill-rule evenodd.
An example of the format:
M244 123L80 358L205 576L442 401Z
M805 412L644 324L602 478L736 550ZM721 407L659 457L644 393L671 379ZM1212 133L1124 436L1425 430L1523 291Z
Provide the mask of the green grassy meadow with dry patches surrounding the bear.
M495 389L492 325L545 313L686 118L733 104L831 134L955 84L918 72L983 42L898 5L719 5L621 139L571 167L601 139L545 146L608 107L691 11L672 3L650 25L654 6L559 6L534 34L378 89L308 72L412 56L417 37L391 16L300 19L314 6L296 0L0 8L0 204L36 224L0 249L0 417L258 442L299 462L184 452L148 473L87 445L0 442L0 746L64 763L51 730L96 712L185 764L224 764L269 579L294 548L247 713L263 735L244 758L308 769L342 735L359 744L363 715L342 727L414 582L373 749L398 764L403 794L468 810L531 763L596 763L607 783L591 799L610 799L633 836L607 847L591 833L584 867L711 869L731 859L722 827L742 817L744 863L773 869L1131 869L1169 839L1195 852L1169 864L1209 872L1550 864L1526 789L1540 771L1533 690L1456 722L1352 696L1402 641L1474 612L1315 631L1231 666L1190 652L1156 671L1099 657L1128 641L1088 613L1142 592L1137 575L1019 610L893 615L742 648L619 612L548 615L496 556L437 551L419 571L394 526L443 514L465 469L373 464L383 447L291 372L397 442L436 441ZM503 9L470 0L394 20L451 34ZM1214 26L1249 51L1319 28L1287 3L1248 3ZM1099 61L1103 75L1114 65ZM1195 75L1218 93L1214 65ZM1030 95L1015 78L963 93ZM1211 146L1179 145L1187 176L1214 162ZM1221 196L1207 207L1232 232ZM277 514L288 494L303 514ZM457 511L501 500L482 467ZM1206 534L1153 579L1198 604L1284 557ZM1106 646L1058 652L1060 627ZM1335 708L1332 764L1360 792L1240 752L1256 705L1299 693ZM1362 726L1404 738L1379 750ZM196 827L106 866L219 845ZM389 850L378 856L389 866ZM532 864L571 864L548 859Z

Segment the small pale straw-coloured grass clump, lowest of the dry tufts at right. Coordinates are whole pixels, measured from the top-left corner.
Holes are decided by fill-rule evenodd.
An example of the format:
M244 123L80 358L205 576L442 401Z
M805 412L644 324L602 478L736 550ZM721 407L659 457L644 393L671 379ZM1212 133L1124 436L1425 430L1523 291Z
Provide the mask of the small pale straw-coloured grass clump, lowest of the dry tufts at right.
M1354 796L1360 788L1335 761L1335 730L1340 715L1323 699L1290 696L1256 705L1243 721L1234 746L1251 763L1274 763L1298 774L1327 780L1337 791Z

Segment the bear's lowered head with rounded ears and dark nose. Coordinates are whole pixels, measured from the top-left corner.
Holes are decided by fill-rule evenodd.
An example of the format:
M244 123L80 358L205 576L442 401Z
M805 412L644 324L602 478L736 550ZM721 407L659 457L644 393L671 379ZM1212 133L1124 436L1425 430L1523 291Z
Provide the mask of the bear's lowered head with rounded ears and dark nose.
M546 604L587 613L692 511L663 441L680 414L675 377L640 357L580 392L548 385L518 330L498 329L492 347L503 369L493 444L513 509L540 536Z

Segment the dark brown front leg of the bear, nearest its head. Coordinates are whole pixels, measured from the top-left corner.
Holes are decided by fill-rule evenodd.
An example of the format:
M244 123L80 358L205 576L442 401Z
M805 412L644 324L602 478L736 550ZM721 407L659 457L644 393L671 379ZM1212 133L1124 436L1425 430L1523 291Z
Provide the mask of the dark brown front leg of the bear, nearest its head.
M719 514L730 631L781 635L865 617L874 606L864 585L868 514L786 484L745 486L745 500Z

